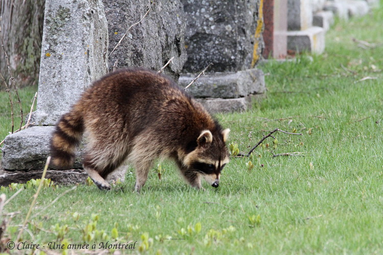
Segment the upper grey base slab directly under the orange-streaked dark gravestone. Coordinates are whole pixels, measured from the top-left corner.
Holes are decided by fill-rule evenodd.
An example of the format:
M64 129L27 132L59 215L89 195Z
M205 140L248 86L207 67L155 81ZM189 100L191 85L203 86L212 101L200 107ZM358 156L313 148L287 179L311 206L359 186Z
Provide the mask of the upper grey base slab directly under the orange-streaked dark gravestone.
M186 87L198 74L183 74L178 84ZM266 91L262 70L216 72L201 76L187 91L195 97L238 98ZM198 86L197 86L198 85Z

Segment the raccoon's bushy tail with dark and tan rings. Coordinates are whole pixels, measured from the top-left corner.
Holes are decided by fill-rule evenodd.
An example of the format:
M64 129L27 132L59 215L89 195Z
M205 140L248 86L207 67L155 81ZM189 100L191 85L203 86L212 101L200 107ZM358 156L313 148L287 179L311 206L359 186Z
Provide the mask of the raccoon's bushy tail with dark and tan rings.
M58 168L70 168L75 161L76 145L84 131L83 118L75 111L64 114L56 124L51 139L52 163Z

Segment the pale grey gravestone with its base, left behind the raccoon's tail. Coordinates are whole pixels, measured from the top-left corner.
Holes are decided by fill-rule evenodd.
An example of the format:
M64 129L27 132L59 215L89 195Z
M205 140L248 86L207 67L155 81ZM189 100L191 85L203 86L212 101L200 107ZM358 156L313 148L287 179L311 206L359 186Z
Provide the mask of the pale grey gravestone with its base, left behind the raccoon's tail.
M0 185L41 177L53 125L82 91L107 71L107 31L101 0L46 0L37 111L33 113L36 126L6 137L2 149L6 171L0 173ZM80 162L78 158L75 167L80 167ZM65 174L50 170L46 175L69 183L85 176L81 170Z

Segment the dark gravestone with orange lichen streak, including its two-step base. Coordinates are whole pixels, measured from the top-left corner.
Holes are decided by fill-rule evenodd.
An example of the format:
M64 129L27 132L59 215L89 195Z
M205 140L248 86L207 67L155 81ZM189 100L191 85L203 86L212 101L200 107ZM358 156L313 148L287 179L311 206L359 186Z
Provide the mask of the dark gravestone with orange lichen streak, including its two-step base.
M264 74L254 68L264 48L263 0L182 3L187 61L179 85L186 87L213 63L187 91L211 113L246 110L266 91Z

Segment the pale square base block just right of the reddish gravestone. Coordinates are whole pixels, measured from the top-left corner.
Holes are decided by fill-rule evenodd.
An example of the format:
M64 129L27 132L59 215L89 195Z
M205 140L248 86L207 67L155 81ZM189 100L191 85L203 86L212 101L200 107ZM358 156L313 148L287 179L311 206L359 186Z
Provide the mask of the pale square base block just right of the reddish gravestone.
M311 27L304 31L288 31L288 49L302 52L323 53L325 47L324 29Z

